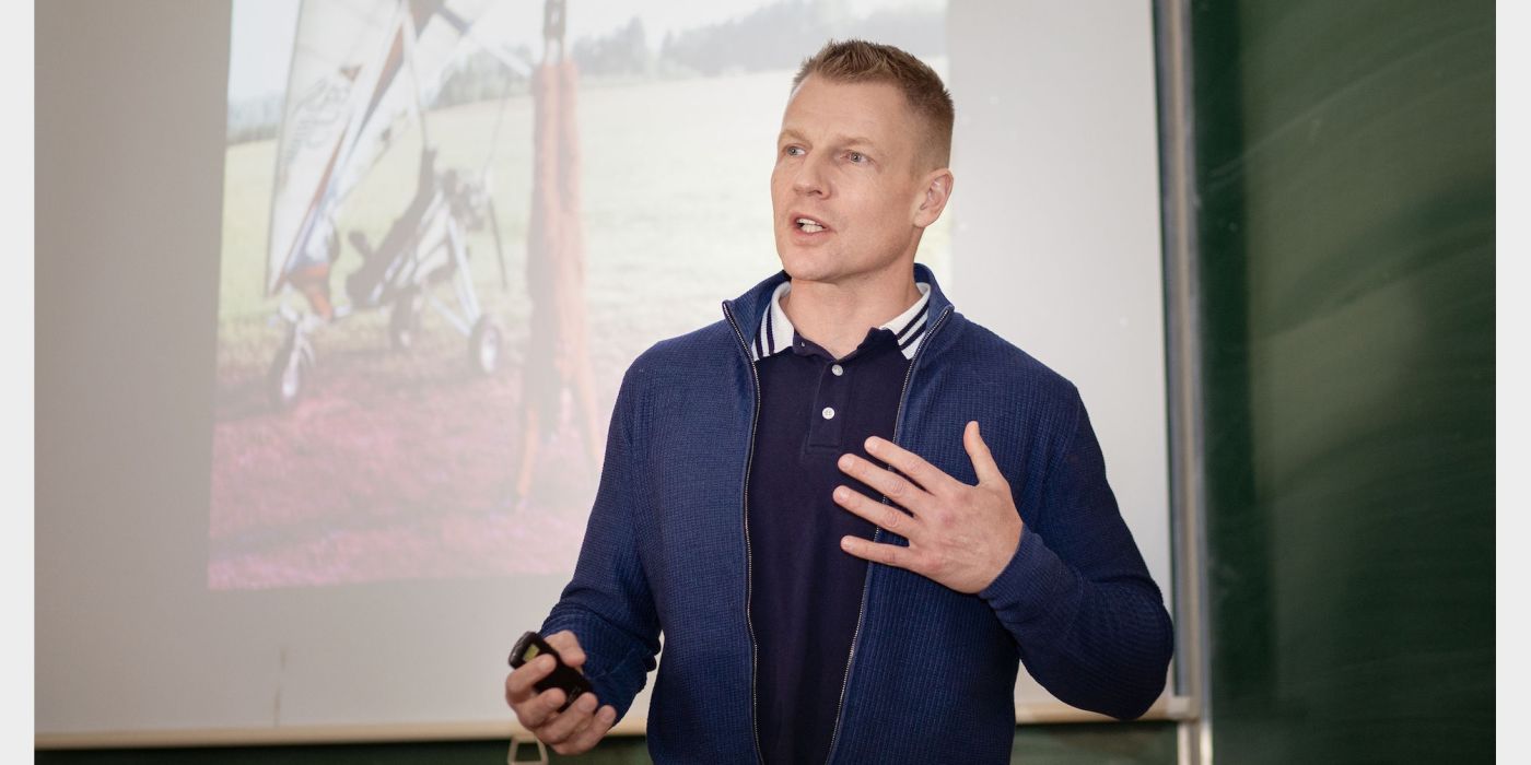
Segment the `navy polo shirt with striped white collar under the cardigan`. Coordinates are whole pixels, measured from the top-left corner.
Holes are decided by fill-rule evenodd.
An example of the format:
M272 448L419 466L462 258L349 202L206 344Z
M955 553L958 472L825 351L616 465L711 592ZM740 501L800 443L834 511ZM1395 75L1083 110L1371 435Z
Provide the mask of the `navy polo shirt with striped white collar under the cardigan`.
M834 358L798 334L776 288L753 343L761 410L750 465L750 624L756 644L755 715L766 762L824 762L839 713L867 562L841 537L876 528L841 508L848 485L880 499L837 467L893 439L903 381L925 337L929 285L893 321Z

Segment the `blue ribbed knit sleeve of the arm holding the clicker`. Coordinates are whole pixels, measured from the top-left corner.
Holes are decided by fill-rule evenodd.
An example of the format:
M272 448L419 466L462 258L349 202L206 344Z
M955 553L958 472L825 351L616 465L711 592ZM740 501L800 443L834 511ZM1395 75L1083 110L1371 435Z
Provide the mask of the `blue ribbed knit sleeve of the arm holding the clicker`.
M600 487L589 513L574 578L542 624L542 633L571 630L585 649L585 675L602 704L626 715L643 690L660 650L660 624L638 557L637 503L646 496L634 444L637 395L629 369L617 393L606 436Z

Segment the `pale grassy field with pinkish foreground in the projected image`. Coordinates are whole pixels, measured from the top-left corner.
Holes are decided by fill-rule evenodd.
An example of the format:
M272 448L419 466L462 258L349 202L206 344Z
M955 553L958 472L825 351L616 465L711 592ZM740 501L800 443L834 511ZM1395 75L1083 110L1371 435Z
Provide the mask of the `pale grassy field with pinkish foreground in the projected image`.
M597 409L609 416L628 363L652 343L721 318L718 303L778 271L769 176L790 72L583 87L583 231ZM217 589L573 571L597 470L573 424L545 444L539 485L513 505L527 344L531 101L427 115L438 168L476 173L493 145L505 242L501 285L488 231L470 236L484 309L505 330L501 372L472 372L467 340L426 312L409 352L387 314L360 311L312 335L318 364L305 398L279 413L266 372L285 327L263 291L274 141L228 148L219 285L217 412L208 581ZM378 242L415 191L419 133L346 202L341 240ZM920 260L943 277L949 219ZM361 265L343 243L331 275ZM450 292L438 295L452 303ZM297 295L288 295L294 308ZM600 422L605 433L605 422Z

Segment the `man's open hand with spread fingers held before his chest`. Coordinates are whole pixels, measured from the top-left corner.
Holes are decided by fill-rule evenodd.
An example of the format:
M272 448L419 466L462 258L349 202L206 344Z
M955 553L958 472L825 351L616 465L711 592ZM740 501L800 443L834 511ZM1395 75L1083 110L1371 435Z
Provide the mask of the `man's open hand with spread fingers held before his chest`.
M850 487L836 487L834 502L908 539L909 546L847 536L841 548L873 563L909 569L957 592L972 594L987 588L1015 557L1023 532L1021 516L1015 511L1009 482L978 436L978 422L968 422L963 445L978 476L975 487L876 436L867 439L867 453L897 473L856 454L844 454L839 467L845 474L880 491L908 514Z

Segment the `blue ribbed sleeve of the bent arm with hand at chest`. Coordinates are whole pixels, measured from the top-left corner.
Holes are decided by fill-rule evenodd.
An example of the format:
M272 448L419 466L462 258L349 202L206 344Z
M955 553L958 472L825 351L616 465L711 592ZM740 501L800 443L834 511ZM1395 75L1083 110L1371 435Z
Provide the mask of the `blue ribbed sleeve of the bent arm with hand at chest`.
M1078 398L1075 399L1078 402ZM1075 707L1133 719L1164 692L1174 633L1122 520L1082 402L1041 509L983 591L1027 672Z

